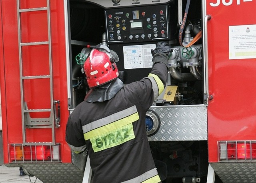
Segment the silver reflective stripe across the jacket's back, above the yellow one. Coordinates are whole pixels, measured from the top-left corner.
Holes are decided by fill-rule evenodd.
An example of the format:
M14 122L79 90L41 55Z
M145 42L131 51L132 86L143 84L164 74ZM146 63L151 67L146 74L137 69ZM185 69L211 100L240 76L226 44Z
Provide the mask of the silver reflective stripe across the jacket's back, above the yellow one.
M109 115L107 117L104 117L102 119L98 119L97 121L93 121L92 123L89 123L87 125L84 125L83 126L83 132L86 133L86 132L91 131L93 129L96 129L98 127L102 127L104 125L107 125L109 123L112 123L114 121L122 119L124 117L132 115L132 114L134 114L136 112L137 112L137 108L136 108L135 105L133 105L132 107L129 107L127 109L124 109L122 111L119 111L117 113Z

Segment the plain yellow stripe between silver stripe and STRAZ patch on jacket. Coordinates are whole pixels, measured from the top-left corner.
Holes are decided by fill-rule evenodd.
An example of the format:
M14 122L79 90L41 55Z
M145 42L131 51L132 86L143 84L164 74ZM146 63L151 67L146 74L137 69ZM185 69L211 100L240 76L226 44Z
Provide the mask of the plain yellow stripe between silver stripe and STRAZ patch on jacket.
M118 121L115 121L113 123L110 123L108 125L104 125L102 127L99 127L97 129L88 131L87 133L84 133L84 139L88 140L91 139L93 137L96 137L98 135L107 133L108 131L112 131L114 129L120 128L122 126L128 125L134 121L137 121L139 119L139 114L138 112L129 115L127 117L124 117L123 119L120 119Z

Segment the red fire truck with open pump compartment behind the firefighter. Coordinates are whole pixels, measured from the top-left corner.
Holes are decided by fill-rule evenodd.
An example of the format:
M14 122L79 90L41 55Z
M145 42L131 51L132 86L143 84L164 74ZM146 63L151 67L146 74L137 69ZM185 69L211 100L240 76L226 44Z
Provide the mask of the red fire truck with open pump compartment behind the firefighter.
M82 182L87 153L70 151L65 129L89 89L83 64L90 50L104 44L116 52L119 78L129 84L148 76L150 50L164 41L172 46L167 84L145 116L152 156L164 162L162 182L256 182L255 0L0 6L7 167L43 182Z

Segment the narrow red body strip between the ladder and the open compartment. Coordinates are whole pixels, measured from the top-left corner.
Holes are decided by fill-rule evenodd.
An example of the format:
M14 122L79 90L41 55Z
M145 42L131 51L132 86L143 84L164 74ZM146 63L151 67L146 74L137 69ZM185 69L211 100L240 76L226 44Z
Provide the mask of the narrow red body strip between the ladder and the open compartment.
M64 29L64 1L50 1L52 62L54 72L54 99L60 100L60 128L56 129L56 142L61 143L62 162L71 162L71 152L65 141L68 120L68 93L66 74L66 43Z

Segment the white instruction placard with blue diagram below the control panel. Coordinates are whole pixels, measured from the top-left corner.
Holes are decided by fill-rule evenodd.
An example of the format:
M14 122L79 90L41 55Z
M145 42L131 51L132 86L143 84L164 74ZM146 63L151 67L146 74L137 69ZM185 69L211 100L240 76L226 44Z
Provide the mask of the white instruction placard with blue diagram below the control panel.
M124 46L124 69L152 68L155 44Z

